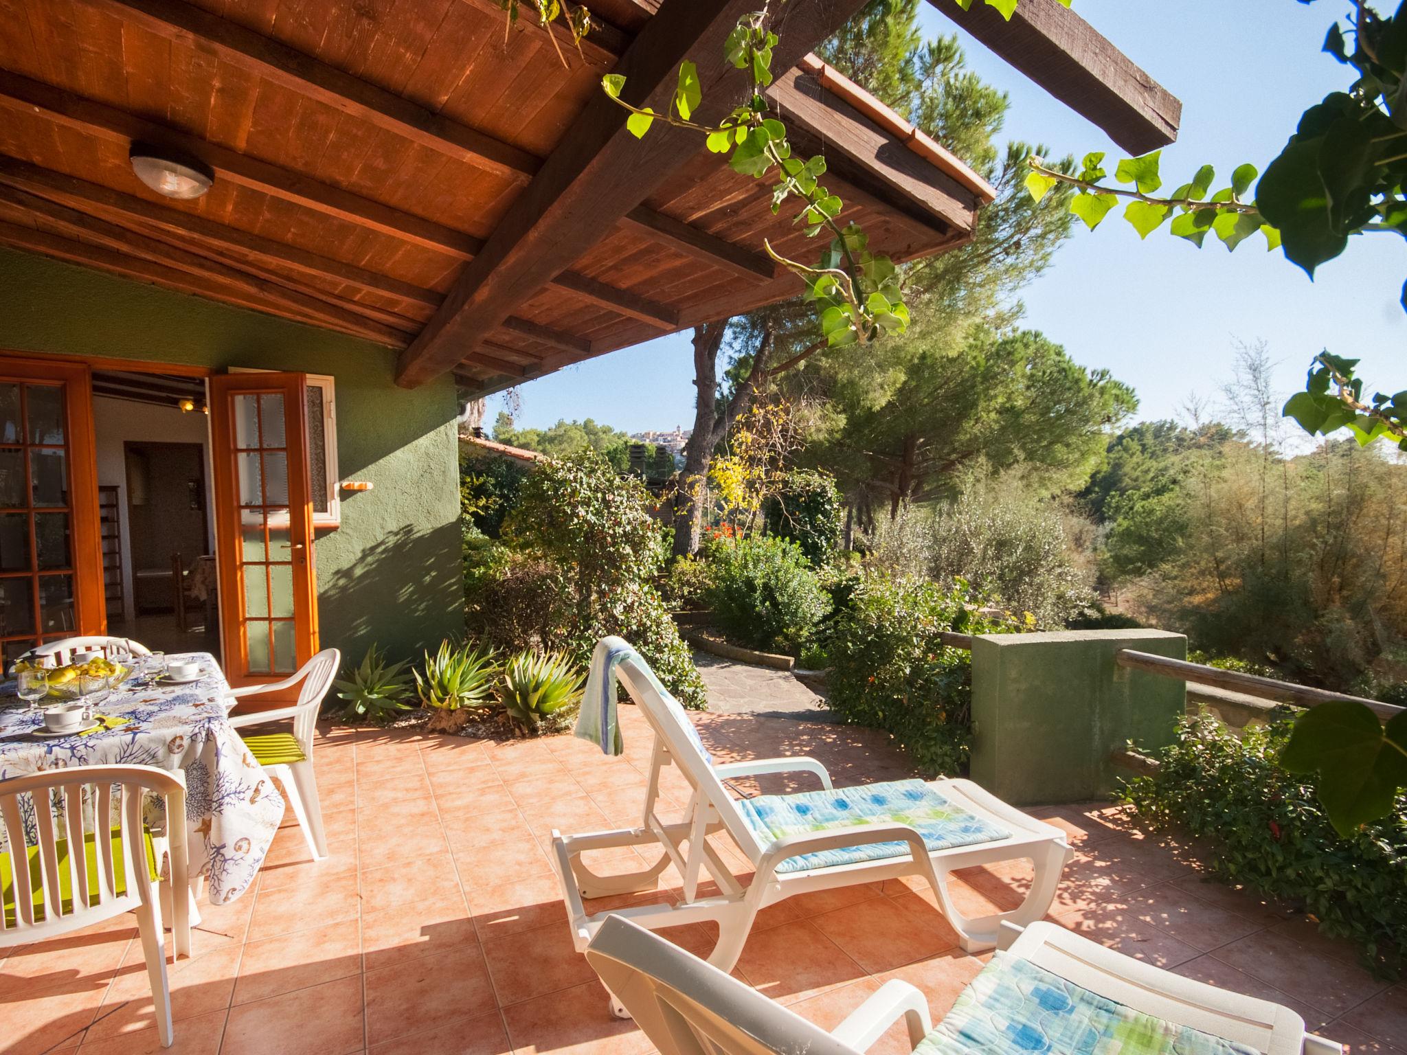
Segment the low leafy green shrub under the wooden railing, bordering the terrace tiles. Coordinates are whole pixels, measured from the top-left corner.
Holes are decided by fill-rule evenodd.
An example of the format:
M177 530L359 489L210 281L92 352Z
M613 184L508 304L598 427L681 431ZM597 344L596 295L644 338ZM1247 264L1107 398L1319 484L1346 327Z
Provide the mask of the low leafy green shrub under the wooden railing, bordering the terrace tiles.
M1328 934L1359 944L1383 973L1407 966L1407 795L1394 816L1341 838L1314 785L1278 764L1290 722L1238 737L1209 717L1183 722L1154 776L1127 799L1152 824L1180 824L1207 840L1213 874L1294 902Z

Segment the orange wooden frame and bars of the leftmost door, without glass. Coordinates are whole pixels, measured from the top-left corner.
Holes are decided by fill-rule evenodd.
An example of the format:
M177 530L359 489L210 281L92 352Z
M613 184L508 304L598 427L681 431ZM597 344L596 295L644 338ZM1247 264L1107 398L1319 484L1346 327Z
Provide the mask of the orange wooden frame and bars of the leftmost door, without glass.
M107 606L103 602L103 551L98 542L97 511L97 450L93 439L93 374L84 363L34 359L0 353L0 381L18 384L58 384L63 388L63 447L66 450L68 506L42 506L44 513L66 512L69 516L69 565L68 568L45 568L44 574L70 574L73 577L73 629L44 633L38 612L38 549L34 532L34 499L28 494L30 470L25 468L25 508L14 513L30 516L30 573L13 573L17 577L28 574L34 580L34 637L58 639L72 634L107 633ZM21 450L28 452L28 436ZM14 445L6 445L14 446ZM28 457L25 454L25 457Z

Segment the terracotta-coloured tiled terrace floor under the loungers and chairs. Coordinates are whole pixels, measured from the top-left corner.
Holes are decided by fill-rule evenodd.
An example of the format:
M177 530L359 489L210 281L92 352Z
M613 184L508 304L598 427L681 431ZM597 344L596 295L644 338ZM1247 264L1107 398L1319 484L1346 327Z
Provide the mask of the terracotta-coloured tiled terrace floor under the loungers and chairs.
M543 852L553 827L636 823L649 736L633 708L622 715L628 755L618 760L570 737L490 744L324 730L317 765L331 858L308 862L297 829L286 827L256 889L204 907L196 957L172 968L172 1051L650 1051L630 1023L608 1016L571 947ZM725 758L813 754L837 784L909 775L867 730L739 715L698 724ZM1034 812L1078 847L1058 921L1179 973L1290 1004L1355 1052L1407 1051L1407 986L1373 980L1346 945L1202 882L1192 857L1142 837L1114 809ZM729 859L741 867L736 854ZM982 869L965 878L964 897L981 912L1021 881ZM886 883L782 903L758 923L739 973L823 1025L888 978L923 989L940 1017L981 961L955 948L930 897ZM159 1051L128 919L0 962L0 1049ZM695 951L711 938L702 926L674 937ZM902 1049L898 1034L875 1048Z

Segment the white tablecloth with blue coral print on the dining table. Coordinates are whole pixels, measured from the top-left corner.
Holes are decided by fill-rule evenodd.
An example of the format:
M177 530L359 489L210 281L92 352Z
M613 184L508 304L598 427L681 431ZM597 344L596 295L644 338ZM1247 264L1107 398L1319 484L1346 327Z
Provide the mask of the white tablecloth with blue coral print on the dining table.
M191 875L205 875L211 903L224 904L253 885L283 821L283 796L225 720L229 684L214 657L180 658L197 660L205 677L153 681L138 658L136 672L94 708L127 723L87 736L34 736L41 715L14 698L13 681L0 686L0 779L70 765L184 769ZM165 819L149 820L165 830Z

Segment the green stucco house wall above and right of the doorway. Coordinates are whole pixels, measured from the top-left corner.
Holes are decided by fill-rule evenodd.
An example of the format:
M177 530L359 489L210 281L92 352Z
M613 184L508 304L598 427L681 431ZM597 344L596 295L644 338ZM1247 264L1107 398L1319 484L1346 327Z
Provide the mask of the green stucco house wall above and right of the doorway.
M464 629L454 385L394 381L395 354L356 338L0 249L0 350L331 374L342 526L318 532L322 644L356 661Z

